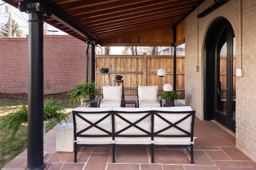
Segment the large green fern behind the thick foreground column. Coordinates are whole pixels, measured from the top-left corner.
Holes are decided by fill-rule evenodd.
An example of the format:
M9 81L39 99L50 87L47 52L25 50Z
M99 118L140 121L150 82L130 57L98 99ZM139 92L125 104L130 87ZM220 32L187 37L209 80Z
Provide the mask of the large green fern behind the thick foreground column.
M28 125L28 107L22 104L20 110L14 113L8 113L0 119L0 129L6 132L12 132L7 150L10 149L15 135L22 125ZM44 100L44 121L55 120L61 124L64 120L67 123L68 114L61 103L54 103L52 99ZM45 127L44 127L45 128Z

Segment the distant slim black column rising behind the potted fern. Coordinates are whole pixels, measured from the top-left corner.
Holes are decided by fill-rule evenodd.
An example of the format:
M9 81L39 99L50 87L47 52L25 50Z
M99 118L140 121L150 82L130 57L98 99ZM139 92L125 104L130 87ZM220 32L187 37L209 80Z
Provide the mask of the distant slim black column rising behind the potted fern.
M95 41L87 41L90 47L90 82L95 81Z

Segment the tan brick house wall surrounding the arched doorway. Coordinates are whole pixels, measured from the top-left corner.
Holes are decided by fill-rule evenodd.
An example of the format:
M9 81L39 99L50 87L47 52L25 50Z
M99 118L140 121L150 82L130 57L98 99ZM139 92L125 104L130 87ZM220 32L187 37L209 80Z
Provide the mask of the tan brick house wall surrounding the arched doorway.
M199 13L213 4L206 0L199 6ZM204 42L206 32L212 22L223 16L234 30L236 38L236 68L239 68L239 4L240 0L230 0L203 18L196 18L197 10L185 19L186 63L185 99L186 105L196 110L196 116L204 118ZM197 58L197 20L198 58ZM242 0L242 68L244 77L236 77L236 147L256 161L256 1ZM194 66L199 63L199 72Z

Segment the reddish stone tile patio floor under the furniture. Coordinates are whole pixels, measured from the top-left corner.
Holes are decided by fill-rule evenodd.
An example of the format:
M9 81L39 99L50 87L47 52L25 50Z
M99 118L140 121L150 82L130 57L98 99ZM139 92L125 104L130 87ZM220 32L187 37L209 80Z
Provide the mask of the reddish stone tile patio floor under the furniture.
M136 96L126 96L136 100ZM176 106L182 105L177 103ZM126 107L134 107L127 104ZM72 123L72 114L69 116ZM227 132L213 121L195 120L194 164L186 148L158 147L154 150L155 163L151 163L150 149L146 147L117 147L116 163L112 163L110 147L82 147L78 162L74 163L74 152L56 152L56 127L46 135L44 158L50 170L229 170L246 169L256 163L236 148L234 134ZM27 150L19 154L2 170L24 170ZM243 166L243 167L240 167ZM248 169L248 168L247 168Z

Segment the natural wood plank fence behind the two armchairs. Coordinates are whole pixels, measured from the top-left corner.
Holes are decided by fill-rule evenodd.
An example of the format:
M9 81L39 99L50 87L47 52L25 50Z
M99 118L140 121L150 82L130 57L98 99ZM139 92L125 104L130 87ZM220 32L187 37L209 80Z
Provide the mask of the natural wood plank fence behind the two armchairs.
M107 74L103 74L102 82L113 85L116 74L124 77L124 94L137 95L138 85L158 85L160 94L160 77L157 70L163 68L166 75L162 77L162 86L165 83L174 84L173 82L173 56L172 55L96 55L96 75L95 82L99 85L100 67L109 67L110 79ZM176 91L179 94L185 94L184 82L184 63L185 56L176 57Z

